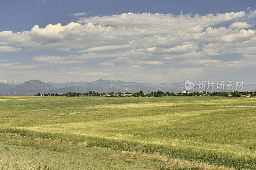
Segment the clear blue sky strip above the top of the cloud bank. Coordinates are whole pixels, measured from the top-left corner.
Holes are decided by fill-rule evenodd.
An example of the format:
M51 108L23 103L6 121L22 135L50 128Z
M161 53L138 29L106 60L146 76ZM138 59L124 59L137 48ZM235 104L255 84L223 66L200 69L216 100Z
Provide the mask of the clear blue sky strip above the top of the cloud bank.
M225 13L244 11L247 7L256 8L254 0L186 0L186 1L153 1L153 0L1 0L0 31L22 32L30 30L34 25L45 27L48 24L66 25L76 22L77 18L65 16L77 12L93 12L87 16L116 15L124 12L132 13Z

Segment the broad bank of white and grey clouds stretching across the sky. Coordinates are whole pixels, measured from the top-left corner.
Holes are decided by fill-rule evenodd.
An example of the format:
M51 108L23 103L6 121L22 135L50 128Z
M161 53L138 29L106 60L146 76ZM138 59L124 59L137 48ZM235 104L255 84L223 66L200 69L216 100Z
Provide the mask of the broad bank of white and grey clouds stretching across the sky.
M199 72L220 74L256 65L255 21L248 19L256 13L248 10L205 15L123 13L79 18L68 25L35 25L30 31L0 32L0 52L54 50L62 55L40 55L32 60L51 66L92 63L84 68L67 68L72 76L106 73L118 79L125 74L135 81L136 76L161 80ZM227 54L240 54L241 59L222 61L213 57ZM54 71L63 74L57 69L52 74ZM39 73L46 75L45 71Z

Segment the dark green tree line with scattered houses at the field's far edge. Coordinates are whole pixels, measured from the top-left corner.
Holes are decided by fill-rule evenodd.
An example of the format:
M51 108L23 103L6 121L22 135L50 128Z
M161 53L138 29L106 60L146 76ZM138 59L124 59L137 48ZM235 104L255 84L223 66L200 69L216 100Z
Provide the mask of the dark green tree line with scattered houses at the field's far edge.
M163 93L163 91L158 90L157 92L148 92L144 93L142 90L136 93L105 93L105 92L94 92L89 91L88 93L76 93L76 92L68 92L68 93L47 93L47 94L40 94L37 93L35 96L103 96L103 97L162 97L162 96L223 96L223 97L256 97L256 91L244 91L244 92L194 92L189 93L188 91L181 91L180 93Z

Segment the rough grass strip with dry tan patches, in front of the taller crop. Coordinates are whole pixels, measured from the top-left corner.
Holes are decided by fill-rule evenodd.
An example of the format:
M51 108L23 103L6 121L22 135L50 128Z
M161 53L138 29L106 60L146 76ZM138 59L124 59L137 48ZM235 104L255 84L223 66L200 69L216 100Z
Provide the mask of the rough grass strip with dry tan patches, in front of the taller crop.
M0 133L0 169L220 169L225 166L164 155L89 146L84 142Z

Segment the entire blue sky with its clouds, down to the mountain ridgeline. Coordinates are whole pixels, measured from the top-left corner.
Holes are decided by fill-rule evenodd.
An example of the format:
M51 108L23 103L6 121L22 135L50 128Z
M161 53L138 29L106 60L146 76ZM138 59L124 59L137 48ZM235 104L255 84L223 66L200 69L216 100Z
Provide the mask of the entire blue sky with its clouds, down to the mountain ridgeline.
M253 84L255 24L255 0L1 0L0 80Z

